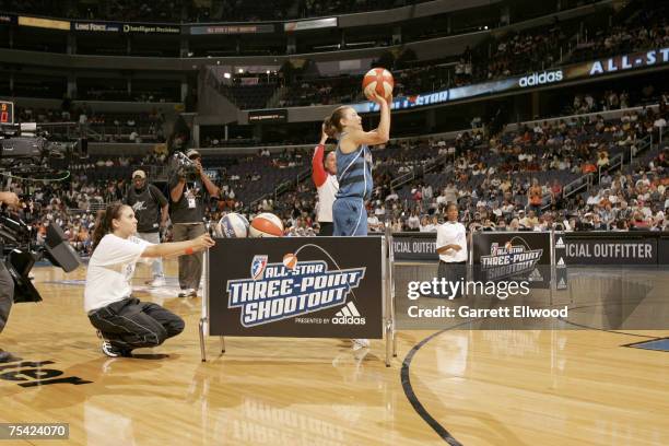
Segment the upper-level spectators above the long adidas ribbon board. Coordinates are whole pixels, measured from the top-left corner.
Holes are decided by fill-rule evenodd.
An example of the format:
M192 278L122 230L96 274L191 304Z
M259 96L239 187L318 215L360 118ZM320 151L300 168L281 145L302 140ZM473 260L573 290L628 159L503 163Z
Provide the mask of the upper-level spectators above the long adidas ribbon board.
M590 31L589 35L580 32L578 38L573 23L555 22L548 28L540 26L509 32L473 49L467 47L460 57L448 63L433 61L406 68L396 61L387 68L391 69L396 79L395 95L410 96L547 70L579 60L664 48L669 45L666 12L666 7L642 10L631 24ZM361 81L362 75L307 80L297 78L287 85L290 92L280 105L308 106L363 101Z

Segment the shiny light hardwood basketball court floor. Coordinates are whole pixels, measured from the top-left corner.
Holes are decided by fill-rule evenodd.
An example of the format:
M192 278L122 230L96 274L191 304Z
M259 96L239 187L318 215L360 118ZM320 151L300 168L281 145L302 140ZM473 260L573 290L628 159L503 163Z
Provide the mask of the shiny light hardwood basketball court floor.
M149 271L138 270L139 284ZM669 444L669 354L621 347L642 337L444 331L407 361L412 404L402 360L434 332L399 333L390 368L380 341L363 356L339 340L228 338L221 356L209 339L201 363L200 300L162 290L138 295L183 316L185 332L142 359L108 359L83 313L83 286L48 283L83 279L83 269L34 271L44 302L15 305L0 334L24 363L0 365L0 422L69 423L70 439L0 446ZM25 364L42 361L52 364ZM72 376L92 383L20 386Z

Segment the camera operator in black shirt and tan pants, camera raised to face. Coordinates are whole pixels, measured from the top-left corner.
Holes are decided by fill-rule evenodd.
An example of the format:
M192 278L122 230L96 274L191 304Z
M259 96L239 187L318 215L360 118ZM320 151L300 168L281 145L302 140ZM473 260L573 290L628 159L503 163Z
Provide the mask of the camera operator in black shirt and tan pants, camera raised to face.
M219 188L202 169L200 152L190 149L186 156L195 164L197 173L190 177L181 167L169 180L169 216L174 242L191 240L204 234L204 207L208 197L219 198ZM202 253L179 257L179 297L197 297L202 262Z

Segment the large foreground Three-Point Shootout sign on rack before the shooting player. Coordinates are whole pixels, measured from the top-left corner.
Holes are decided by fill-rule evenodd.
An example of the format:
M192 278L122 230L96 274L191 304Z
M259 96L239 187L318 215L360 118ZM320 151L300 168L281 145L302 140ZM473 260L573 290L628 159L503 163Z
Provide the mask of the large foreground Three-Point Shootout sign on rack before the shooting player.
M219 238L211 336L383 338L382 237Z

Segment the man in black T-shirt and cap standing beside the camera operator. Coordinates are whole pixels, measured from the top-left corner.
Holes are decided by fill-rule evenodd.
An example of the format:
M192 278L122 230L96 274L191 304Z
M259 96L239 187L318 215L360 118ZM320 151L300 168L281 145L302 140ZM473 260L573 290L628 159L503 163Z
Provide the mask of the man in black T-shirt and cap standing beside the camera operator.
M167 199L161 190L146 183L144 171L132 173L132 187L128 188L126 204L132 208L137 219L137 236L143 240L159 245L161 230L167 224ZM165 273L161 257L153 259L153 280L146 282L151 286L163 286Z

